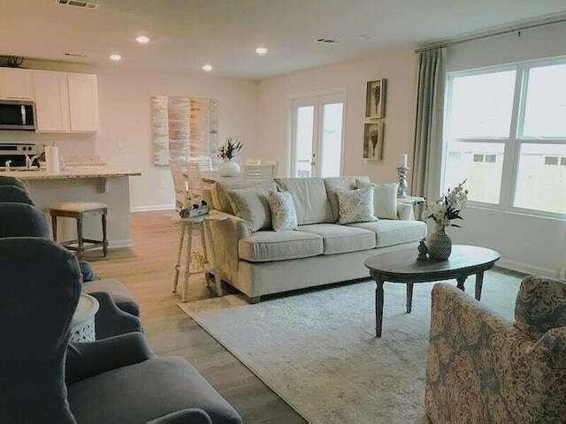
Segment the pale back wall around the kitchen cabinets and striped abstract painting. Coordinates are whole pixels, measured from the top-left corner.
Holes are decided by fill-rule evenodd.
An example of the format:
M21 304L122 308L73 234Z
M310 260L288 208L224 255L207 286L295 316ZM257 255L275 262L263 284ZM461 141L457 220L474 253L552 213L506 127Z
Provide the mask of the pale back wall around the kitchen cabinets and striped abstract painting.
M218 141L236 135L246 143L245 153L256 144L257 82L216 78L190 73L138 72L112 67L27 62L35 69L88 72L98 75L100 131L96 134L35 134L0 132L0 142L56 141L61 153L100 155L110 166L140 170L130 178L132 208L172 207L169 167L153 164L151 96L176 95L218 100ZM118 143L123 144L119 149ZM245 156L242 156L242 158ZM241 158L238 158L240 160Z

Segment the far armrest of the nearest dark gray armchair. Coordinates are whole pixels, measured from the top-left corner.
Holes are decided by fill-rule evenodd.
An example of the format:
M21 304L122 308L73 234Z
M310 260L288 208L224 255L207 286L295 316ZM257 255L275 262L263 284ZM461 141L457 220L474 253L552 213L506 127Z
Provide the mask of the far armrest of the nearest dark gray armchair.
M155 356L142 333L96 340L96 342L69 342L65 361L67 385L128 365L149 360Z

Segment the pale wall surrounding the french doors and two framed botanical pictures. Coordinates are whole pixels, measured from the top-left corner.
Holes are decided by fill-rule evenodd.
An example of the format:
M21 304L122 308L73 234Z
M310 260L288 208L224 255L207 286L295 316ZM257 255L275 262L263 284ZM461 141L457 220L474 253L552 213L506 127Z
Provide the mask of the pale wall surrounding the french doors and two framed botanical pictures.
M387 79L384 159L363 159L366 81ZM347 88L344 140L344 175L369 175L374 181L397 179L399 156L414 145L414 104L417 56L410 50L342 64L312 68L263 79L257 102L257 157L279 160L286 175L288 157L289 96L335 87Z

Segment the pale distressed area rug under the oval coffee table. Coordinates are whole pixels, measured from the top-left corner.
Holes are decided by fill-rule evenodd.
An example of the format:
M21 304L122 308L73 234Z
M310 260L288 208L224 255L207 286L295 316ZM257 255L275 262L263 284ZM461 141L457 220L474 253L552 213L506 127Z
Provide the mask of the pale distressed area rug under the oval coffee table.
M371 280L256 305L228 295L180 307L312 423L424 423L433 284L415 284L410 314L405 285L385 284L381 338ZM512 320L519 284L486 272L482 303Z

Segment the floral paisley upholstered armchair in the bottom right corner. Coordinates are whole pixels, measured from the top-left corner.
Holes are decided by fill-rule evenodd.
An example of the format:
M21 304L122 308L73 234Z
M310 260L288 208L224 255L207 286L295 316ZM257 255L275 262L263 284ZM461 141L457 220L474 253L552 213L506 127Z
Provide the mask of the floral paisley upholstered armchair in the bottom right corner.
M433 423L566 422L566 283L526 276L513 323L436 284L424 402Z

